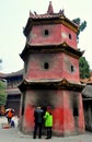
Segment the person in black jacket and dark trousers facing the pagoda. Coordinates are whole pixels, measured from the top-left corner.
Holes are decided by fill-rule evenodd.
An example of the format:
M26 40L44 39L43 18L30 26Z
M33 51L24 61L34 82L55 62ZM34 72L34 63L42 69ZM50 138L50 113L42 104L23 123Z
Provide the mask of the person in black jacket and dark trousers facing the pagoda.
M42 138L42 128L43 128L43 117L44 117L44 110L41 108L41 106L37 106L37 108L34 111L34 135L33 139L36 139L37 130L38 130L38 138Z

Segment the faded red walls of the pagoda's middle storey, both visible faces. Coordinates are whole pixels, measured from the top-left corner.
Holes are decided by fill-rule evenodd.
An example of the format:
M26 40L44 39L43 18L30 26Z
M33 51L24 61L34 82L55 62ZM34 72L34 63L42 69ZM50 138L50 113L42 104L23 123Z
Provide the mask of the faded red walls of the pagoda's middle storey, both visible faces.
M44 63L48 62L49 68L44 69ZM73 71L71 71L73 66ZM32 54L25 74L27 80L62 79L79 82L79 62L65 54Z

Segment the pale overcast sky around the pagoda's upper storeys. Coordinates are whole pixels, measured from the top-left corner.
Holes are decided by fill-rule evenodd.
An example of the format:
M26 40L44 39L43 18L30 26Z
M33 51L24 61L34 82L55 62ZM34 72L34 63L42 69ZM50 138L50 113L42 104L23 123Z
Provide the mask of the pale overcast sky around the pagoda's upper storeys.
M30 10L42 14L46 13L50 0L0 0L0 72L10 73L23 68L20 58L25 46L23 27L27 22ZM92 0L51 0L54 12L65 10L65 15L73 20L80 17L87 21L87 27L80 34L78 48L85 50L87 58L92 69Z

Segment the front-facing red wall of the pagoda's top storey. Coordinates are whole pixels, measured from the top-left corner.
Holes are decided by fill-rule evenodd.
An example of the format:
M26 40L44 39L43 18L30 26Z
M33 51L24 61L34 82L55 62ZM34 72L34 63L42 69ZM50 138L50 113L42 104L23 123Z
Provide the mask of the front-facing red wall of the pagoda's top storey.
M45 35L45 29L48 29L48 36ZM30 33L30 44L48 45L58 44L61 40L60 24L51 25L35 25Z

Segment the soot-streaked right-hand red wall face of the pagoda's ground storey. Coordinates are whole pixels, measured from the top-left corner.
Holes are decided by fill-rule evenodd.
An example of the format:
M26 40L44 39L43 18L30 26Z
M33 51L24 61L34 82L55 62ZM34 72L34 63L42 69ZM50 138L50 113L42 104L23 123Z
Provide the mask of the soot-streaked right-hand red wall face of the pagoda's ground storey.
M77 92L64 91L64 129L65 133L84 132L84 117L82 96ZM78 116L73 115L74 107L78 107Z

